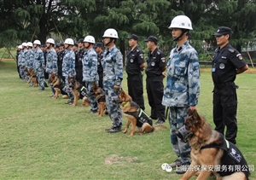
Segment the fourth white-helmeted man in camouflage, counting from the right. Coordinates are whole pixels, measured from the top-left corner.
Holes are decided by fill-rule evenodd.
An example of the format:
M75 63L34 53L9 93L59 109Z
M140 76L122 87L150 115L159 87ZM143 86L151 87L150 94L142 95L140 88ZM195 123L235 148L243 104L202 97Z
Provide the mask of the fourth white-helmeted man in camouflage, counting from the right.
M62 76L65 78L65 85L67 87L67 95L70 100L66 102L66 104L73 104L73 94L71 90L68 88L68 77L75 76L75 54L73 52L73 39L67 38L64 42L65 49L67 50L62 62Z

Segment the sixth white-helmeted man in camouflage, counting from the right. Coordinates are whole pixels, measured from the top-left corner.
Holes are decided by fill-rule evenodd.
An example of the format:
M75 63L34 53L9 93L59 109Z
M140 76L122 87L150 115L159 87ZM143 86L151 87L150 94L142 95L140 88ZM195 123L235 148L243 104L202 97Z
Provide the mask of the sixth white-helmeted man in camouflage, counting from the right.
M44 90L44 52L40 49L41 42L39 40L34 41L35 51L35 60L34 60L34 69L37 73L39 91Z

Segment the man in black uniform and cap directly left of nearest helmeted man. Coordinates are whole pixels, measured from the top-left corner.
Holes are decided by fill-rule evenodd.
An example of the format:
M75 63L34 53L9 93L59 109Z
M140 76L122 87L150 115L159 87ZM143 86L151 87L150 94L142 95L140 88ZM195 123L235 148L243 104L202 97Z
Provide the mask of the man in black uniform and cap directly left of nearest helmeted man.
M164 53L157 48L157 38L149 36L144 40L147 42L148 52L148 67L147 74L147 93L148 103L151 107L151 119L158 119L156 124L162 124L166 121L166 107L162 105L164 94L163 72L166 70L166 57Z

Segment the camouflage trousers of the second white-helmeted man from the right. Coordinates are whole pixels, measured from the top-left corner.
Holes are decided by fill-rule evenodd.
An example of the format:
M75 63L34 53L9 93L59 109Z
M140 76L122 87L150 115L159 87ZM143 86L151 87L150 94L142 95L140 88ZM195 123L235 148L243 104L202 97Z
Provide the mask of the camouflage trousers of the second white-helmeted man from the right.
M115 100L118 99L119 92L114 90L105 90L106 105L108 108L109 118L112 120L113 126L122 125L122 110L120 104Z

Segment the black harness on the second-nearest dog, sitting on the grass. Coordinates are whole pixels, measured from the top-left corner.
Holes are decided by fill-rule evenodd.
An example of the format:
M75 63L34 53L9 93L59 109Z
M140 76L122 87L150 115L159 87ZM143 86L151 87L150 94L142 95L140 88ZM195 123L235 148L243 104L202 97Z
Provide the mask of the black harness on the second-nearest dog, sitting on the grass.
M131 116L133 116L135 119L137 119L137 127L142 127L144 123L148 123L149 125L153 125L152 123L152 119L150 119L147 115L147 113L145 113L143 111L143 109L141 109L136 102L130 102L131 103L131 107L137 107L137 111L136 112L124 112L126 114L129 114Z

